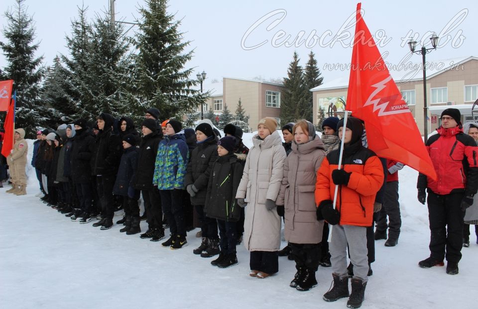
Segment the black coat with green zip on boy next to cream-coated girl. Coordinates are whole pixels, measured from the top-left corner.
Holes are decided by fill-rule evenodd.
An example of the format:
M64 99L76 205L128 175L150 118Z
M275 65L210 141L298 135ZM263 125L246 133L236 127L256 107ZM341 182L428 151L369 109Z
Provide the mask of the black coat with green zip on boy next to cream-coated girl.
M235 154L218 156L212 166L206 196L206 215L223 221L237 222L240 207L236 199L244 165Z

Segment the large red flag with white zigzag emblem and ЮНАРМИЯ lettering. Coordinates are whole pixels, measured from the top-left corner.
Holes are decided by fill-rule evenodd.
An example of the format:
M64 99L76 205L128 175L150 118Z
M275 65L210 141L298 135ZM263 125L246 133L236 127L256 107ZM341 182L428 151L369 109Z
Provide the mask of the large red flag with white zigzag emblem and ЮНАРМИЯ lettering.
M365 121L369 149L436 179L420 131L360 15L360 4L346 109Z

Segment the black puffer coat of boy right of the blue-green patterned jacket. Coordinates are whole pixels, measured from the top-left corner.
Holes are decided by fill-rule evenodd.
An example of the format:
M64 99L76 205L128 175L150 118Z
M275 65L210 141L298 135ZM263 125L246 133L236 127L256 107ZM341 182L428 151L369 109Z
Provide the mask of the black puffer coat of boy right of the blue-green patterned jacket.
M196 195L191 197L192 205L204 205L211 169L218 158L218 138L211 136L197 145L188 163L184 186L187 188L193 184L198 190Z

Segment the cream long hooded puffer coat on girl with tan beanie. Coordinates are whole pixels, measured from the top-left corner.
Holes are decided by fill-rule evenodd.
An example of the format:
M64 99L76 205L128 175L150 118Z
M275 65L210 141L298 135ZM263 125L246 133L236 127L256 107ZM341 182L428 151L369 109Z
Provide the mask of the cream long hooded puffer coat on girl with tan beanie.
M249 251L277 251L281 218L275 208L267 210L265 201L277 199L286 154L277 131L264 140L254 135L252 143L236 195L247 202L243 243Z

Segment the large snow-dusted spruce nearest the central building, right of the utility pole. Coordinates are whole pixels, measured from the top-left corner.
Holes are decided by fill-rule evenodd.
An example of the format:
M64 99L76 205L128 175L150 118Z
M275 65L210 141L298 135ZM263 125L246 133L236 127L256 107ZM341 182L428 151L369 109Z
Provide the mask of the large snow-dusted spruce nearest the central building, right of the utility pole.
M145 7L139 9L133 92L135 108L143 113L146 108L156 107L162 119L179 119L194 112L209 92L193 88L199 81L195 76L190 78L193 68L184 68L193 56L192 51L185 52L190 41L183 40L180 21L166 9L167 0L145 0Z

